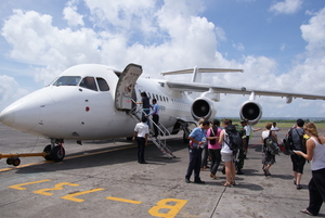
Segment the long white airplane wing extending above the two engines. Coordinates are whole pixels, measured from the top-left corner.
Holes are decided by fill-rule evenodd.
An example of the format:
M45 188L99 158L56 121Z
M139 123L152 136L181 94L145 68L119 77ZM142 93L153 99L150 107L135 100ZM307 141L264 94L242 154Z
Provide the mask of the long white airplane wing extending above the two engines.
M176 81L166 81L166 85L177 91L193 91L193 92L206 92L212 91L216 93L231 93L231 94L251 94L255 95L269 95L269 97L282 97L282 98L301 98L309 100L325 100L325 95L317 94L302 94L295 92L280 92L280 91L265 91L265 90L257 90L257 89L246 89L242 88L229 88L229 87L213 87L208 84L199 84L199 82L176 82Z

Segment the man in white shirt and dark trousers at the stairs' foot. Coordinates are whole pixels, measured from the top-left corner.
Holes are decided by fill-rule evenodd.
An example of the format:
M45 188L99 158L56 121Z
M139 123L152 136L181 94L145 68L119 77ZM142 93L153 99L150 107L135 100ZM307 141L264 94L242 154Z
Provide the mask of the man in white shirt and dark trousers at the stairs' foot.
M144 161L144 149L147 145L148 126L146 125L147 118L144 116L141 123L138 123L134 128L133 141L138 142L138 163L147 164Z

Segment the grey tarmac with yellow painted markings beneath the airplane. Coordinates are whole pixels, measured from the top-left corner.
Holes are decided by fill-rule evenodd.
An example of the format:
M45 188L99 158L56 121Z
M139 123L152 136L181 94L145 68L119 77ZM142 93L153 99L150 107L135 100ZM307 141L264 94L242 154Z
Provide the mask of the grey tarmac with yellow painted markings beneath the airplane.
M281 128L281 125L278 125ZM278 133L283 139L287 129ZM324 132L321 132L324 134ZM289 156L276 156L265 177L261 164L261 131L250 140L245 175L237 185L224 188L225 176L202 171L205 184L185 183L187 145L182 133L169 137L176 158L167 158L153 144L148 164L138 164L136 145L125 139L64 144L63 162L21 158L20 166L0 159L1 217L309 217L299 210L309 204L310 164L304 166L302 190L292 182ZM0 125L0 153L39 153L49 140ZM193 181L193 178L191 178ZM325 217L323 206L318 217Z

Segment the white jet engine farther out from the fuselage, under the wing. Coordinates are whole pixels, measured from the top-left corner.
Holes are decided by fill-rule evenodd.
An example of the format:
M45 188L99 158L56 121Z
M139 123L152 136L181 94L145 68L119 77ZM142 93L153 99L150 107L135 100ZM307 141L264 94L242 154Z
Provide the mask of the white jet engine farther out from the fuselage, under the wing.
M248 119L249 125L255 125L262 117L262 106L256 101L246 101L240 107L239 116L242 119Z

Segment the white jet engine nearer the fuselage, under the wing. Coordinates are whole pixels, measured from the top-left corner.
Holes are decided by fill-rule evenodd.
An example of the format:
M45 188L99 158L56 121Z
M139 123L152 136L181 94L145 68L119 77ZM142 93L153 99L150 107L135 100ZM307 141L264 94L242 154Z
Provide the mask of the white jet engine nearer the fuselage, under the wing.
M217 114L217 111L213 107L213 102L205 97L197 98L194 100L191 106L191 114L194 119L198 120L202 117L206 119L213 118Z

